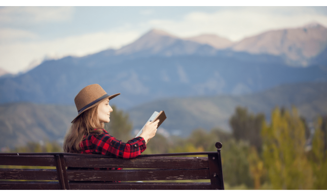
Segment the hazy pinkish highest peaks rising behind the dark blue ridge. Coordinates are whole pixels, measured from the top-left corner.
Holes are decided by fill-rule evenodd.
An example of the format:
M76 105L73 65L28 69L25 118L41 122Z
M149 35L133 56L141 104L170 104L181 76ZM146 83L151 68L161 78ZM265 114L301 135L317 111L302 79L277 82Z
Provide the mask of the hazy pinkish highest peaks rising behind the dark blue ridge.
M238 42L231 42L227 38L214 34L182 38L163 30L153 29L134 43L117 51L108 50L107 54L207 56L227 50L250 54L269 54L282 58L287 65L308 66L312 64L312 59L321 54L326 47L327 28L318 23L310 23L298 28L270 30L245 37Z

